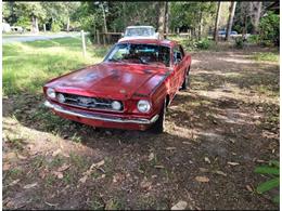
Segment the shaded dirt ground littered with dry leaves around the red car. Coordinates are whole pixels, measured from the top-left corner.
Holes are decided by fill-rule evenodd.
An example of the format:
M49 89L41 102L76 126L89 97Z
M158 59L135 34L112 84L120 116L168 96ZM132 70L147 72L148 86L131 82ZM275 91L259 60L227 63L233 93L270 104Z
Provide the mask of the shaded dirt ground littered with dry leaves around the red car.
M63 120L42 95L3 98L4 209L278 209L255 167L279 159L279 64L267 49L192 54L190 89L166 130L93 129Z

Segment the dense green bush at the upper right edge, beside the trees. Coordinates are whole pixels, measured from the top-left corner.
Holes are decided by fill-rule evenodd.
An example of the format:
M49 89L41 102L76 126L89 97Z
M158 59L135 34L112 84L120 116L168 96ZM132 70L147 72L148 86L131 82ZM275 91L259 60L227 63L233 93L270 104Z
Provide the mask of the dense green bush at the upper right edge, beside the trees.
M260 19L259 23L259 39L265 45L274 44L279 45L280 41L280 27L279 15L269 12Z

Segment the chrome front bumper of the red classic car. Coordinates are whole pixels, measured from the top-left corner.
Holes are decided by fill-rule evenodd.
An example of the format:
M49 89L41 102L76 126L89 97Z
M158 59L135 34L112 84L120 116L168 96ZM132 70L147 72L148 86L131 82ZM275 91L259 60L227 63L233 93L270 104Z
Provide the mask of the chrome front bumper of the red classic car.
M152 124L158 119L158 115L155 115L152 119L142 119L142 118L128 119L128 118L113 117L108 115L98 115L98 114L89 114L85 111L75 111L75 110L65 109L60 105L50 103L49 101L44 102L44 106L65 115L93 119L93 120L108 121L108 122Z

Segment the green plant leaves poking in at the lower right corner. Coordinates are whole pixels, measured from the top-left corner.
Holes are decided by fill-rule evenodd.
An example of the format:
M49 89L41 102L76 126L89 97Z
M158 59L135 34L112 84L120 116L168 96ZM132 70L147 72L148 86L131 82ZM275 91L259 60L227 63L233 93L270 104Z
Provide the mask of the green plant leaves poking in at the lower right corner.
M257 167L255 169L256 173L259 174L267 174L271 176L270 180L259 184L257 186L257 193L259 194L265 194L266 192L269 192L273 188L279 187L280 184L280 171L279 171L279 161L272 160L269 162L269 166L262 166L262 167ZM272 200L273 202L279 203L279 196L275 196Z

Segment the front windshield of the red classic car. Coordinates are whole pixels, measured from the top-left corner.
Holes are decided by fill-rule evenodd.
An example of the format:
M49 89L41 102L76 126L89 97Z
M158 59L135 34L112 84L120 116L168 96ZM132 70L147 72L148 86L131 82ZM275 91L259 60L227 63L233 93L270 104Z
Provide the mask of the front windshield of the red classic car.
M115 45L106 61L165 65L169 67L169 52L170 49L164 45L120 43Z

